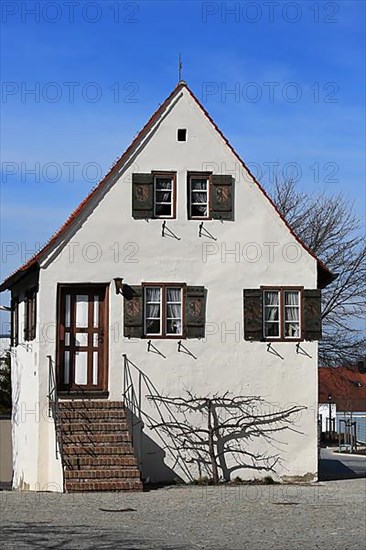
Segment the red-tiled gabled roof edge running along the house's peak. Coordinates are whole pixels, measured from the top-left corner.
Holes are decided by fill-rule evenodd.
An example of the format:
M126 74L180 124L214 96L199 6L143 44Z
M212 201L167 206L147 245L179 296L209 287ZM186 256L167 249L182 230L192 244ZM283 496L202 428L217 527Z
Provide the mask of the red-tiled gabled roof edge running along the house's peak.
M245 165L244 161L240 158L238 153L235 151L235 149L232 147L232 145L229 143L227 138L223 135L221 130L217 127L213 119L210 117L206 109L202 106L202 104L199 102L199 100L196 98L194 93L190 90L190 88L187 86L187 84L184 81L180 81L179 84L174 88L172 93L167 97L167 99L160 105L160 107L155 111L155 113L151 116L150 120L145 124L145 126L142 128L142 130L138 133L138 135L135 137L135 139L132 141L131 145L124 151L124 153L121 155L121 157L117 160L117 162L114 164L114 166L111 168L111 170L104 176L104 178L100 181L100 183L92 189L92 191L89 193L89 195L79 204L79 206L72 212L72 214L68 217L66 222L61 226L61 228L56 231L50 238L50 240L43 246L43 248L37 252L34 256L32 256L27 262L25 262L23 265L21 265L15 272L13 272L11 275L9 275L3 283L0 285L0 291L4 291L7 289L10 289L19 279L21 279L30 269L37 268L39 266L39 262L42 260L42 258L47 254L54 245L57 244L58 240L65 234L66 230L69 229L72 224L75 222L77 218L81 215L81 213L86 209L86 207L90 204L92 199L94 199L108 184L111 177L115 175L124 165L124 163L129 159L130 155L134 152L134 150L137 148L137 146L142 142L142 140L146 137L146 135L149 133L149 131L154 126L155 122L160 118L160 116L164 113L165 109L168 107L168 105L171 103L171 101L174 99L174 97L183 89L185 88L187 92L190 94L192 99L195 101L195 103L198 105L198 107L201 109L205 117L209 120L209 122L212 124L214 129L218 132L218 134L222 137L223 141L226 143L226 145L229 147L229 149L232 151L232 153L235 155L235 157L238 159L239 163L244 167L244 169L250 174L250 176L253 178L253 181L257 184L260 191L263 193L263 195L266 197L266 199L272 204L273 208L276 210L277 214L280 216L284 224L288 227L291 234L294 236L294 238L299 242L299 244L308 252L311 256L313 256L317 262L318 262L318 287L323 288L327 284L329 284L333 279L334 275L333 273L319 260L312 252L311 250L301 241L301 239L293 232L290 225L287 223L285 218L282 216L282 214L278 211L277 207L273 203L272 199L269 197L269 195L266 193L266 191L263 189L261 184L255 179L254 175L250 172L248 167Z

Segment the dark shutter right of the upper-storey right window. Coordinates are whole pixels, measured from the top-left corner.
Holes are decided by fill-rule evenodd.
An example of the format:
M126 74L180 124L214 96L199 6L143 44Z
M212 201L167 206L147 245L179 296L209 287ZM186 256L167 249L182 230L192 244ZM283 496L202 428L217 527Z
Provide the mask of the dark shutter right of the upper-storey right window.
M212 176L210 216L216 220L234 219L234 179Z

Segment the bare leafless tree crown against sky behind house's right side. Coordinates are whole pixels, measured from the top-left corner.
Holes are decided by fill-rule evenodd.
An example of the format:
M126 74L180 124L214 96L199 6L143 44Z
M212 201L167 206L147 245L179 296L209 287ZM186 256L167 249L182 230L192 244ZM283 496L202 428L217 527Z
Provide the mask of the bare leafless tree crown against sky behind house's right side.
M343 195L308 194L276 181L272 198L294 232L335 274L322 292L320 362L350 365L365 354L366 273L362 224Z

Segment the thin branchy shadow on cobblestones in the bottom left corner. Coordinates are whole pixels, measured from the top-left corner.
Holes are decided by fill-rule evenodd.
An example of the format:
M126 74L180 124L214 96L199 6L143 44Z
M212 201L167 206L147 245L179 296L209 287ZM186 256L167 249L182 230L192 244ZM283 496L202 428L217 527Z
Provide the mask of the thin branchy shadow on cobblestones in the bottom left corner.
M116 524L118 525L118 523ZM2 526L2 548L52 548L75 550L191 550L188 546L166 545L162 541L140 540L123 532L118 526L110 529L90 528L88 525L49 525L47 523L14 523Z

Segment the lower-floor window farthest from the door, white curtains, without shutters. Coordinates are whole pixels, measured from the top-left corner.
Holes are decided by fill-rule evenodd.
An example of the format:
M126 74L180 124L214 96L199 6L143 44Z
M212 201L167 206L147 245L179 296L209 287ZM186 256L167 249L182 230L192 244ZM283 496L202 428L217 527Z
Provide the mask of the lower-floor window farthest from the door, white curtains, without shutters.
M301 338L301 290L263 290L263 328L268 339Z

